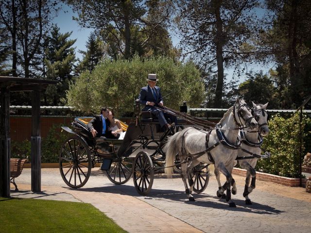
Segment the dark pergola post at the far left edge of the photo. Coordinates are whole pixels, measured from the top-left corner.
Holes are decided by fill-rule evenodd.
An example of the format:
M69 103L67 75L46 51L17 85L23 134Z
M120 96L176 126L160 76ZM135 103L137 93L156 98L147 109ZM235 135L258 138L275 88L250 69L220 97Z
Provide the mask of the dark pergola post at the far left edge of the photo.
M0 196L10 197L10 90L1 88L0 95Z

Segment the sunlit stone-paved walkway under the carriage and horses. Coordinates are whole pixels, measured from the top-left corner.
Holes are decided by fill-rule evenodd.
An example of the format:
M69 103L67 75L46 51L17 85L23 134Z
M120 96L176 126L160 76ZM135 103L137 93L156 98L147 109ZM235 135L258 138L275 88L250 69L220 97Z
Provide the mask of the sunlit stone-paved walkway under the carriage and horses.
M258 182L250 195L253 205L247 206L242 197L243 181L238 176L238 194L233 196L237 208L229 208L216 197L218 185L214 177L207 190L194 194L196 201L189 202L179 178L156 178L150 195L144 197L137 194L132 180L123 185L112 184L98 168L93 169L80 189L67 187L58 169L42 169L42 192L37 194L29 191L30 174L30 168L23 170L16 179L21 191L12 190L12 197L91 203L130 233L305 233L311 229L311 194L303 194L309 201L296 200L275 194L280 185ZM259 186L268 184L271 190L260 190ZM302 193L303 188L294 190Z

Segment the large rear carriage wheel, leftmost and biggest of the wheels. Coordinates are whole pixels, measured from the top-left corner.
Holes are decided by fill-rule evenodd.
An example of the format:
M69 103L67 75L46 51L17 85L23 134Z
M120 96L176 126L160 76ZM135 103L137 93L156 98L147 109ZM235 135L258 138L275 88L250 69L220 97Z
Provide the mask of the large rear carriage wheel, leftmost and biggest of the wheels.
M59 170L64 182L72 188L86 184L92 169L91 153L79 137L70 137L59 153Z

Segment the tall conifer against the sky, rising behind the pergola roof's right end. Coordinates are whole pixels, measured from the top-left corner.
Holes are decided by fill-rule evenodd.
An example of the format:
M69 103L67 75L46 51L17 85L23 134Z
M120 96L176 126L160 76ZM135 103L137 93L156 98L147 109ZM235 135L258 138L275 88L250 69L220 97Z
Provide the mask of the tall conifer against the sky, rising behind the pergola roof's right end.
M56 25L52 26L51 34L47 37L48 48L45 51L47 79L57 80L57 85L50 85L45 92L45 104L54 106L66 104L66 91L73 80L73 68L76 61L74 47L76 42L70 40L71 33L60 33Z

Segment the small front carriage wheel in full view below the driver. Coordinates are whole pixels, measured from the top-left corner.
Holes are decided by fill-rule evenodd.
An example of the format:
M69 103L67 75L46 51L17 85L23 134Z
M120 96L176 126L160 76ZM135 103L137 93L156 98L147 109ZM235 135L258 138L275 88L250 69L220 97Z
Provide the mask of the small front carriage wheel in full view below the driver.
M148 153L139 152L134 160L133 180L137 192L147 195L154 183L154 167Z

